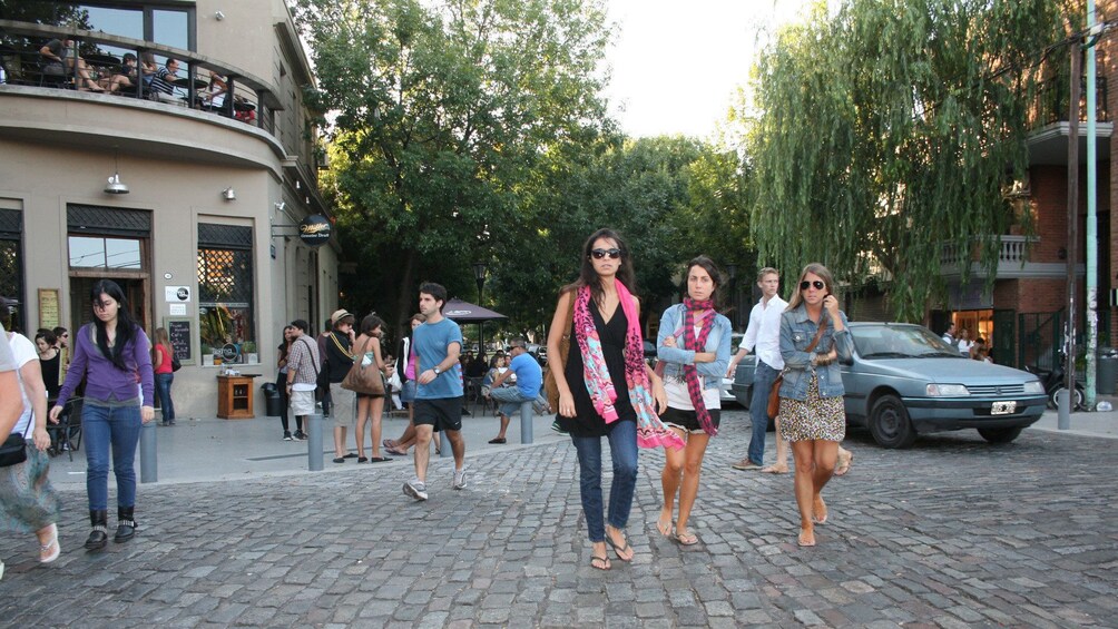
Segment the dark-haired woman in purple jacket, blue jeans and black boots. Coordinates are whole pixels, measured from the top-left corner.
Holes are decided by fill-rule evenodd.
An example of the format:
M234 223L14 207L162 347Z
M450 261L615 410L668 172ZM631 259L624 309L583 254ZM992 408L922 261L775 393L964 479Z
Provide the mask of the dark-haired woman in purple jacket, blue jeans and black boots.
M113 448L116 475L116 515L114 542L127 542L136 528L133 515L136 499L136 474L133 467L140 428L155 417L154 378L151 368L151 342L129 315L124 292L110 279L101 279L91 292L93 323L74 335L74 359L58 402L50 409L56 421L74 389L86 379L82 406L82 431L85 433L85 490L89 498L93 532L85 541L89 550L104 549L108 541L108 447Z

